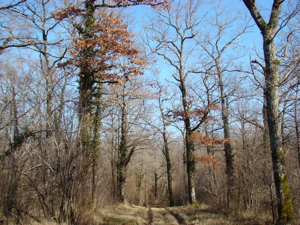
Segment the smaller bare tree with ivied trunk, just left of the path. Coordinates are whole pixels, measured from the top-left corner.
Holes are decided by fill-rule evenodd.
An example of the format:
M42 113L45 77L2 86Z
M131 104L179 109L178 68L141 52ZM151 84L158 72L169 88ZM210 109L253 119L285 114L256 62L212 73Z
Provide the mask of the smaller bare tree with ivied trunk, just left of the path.
M134 154L145 149L147 133L146 123L143 121L147 115L143 101L148 91L141 90L141 78L123 78L118 85L107 86L108 95L105 112L105 129L109 132L109 151L112 165L113 186L116 190L118 202L125 202L125 187L127 184L127 168Z

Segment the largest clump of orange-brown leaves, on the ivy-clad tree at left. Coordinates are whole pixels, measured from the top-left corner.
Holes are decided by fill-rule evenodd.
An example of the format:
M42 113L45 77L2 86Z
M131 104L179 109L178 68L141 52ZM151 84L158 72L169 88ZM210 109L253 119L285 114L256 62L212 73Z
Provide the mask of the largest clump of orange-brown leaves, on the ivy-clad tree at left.
M133 41L134 34L120 18L102 15L93 28L92 35L75 42L71 50L73 57L60 64L61 67L79 67L101 82L117 82L120 76L128 79L131 75L143 74L141 67L146 62Z

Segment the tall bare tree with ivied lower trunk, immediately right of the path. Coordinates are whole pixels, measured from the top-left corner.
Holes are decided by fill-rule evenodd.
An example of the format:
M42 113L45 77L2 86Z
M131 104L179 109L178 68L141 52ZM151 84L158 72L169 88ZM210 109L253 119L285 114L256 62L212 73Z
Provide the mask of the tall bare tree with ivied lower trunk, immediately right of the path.
M193 47L190 46L196 35L197 26L201 18L197 16L201 7L200 1L176 2L170 9L157 12L157 20L146 27L148 45L152 52L161 56L175 69L173 78L181 91L183 111L178 114L185 124L186 169L188 176L189 203L196 203L194 144L190 141L192 133L205 121L207 113L192 127L191 102L189 101L186 79L195 68L187 66L188 59L192 57ZM151 45L150 40L155 44ZM147 42L146 41L146 42ZM178 118L177 118L178 119Z

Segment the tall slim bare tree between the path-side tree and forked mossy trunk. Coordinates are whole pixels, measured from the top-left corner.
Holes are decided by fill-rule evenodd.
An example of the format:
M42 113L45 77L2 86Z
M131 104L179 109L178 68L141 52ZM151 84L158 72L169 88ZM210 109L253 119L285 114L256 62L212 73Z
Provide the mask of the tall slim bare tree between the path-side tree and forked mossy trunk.
M242 48L239 47L239 40L247 32L249 28L248 22L241 27L238 31L231 30L232 24L239 21L241 16L231 16L226 14L226 7L223 6L223 2L212 2L213 11L215 16L213 19L208 20L209 29L205 30L203 36L197 38L197 43L202 47L208 57L205 58L205 65L208 74L216 76L216 82L218 83L220 100L221 100L221 114L223 122L224 138L230 140L230 103L235 99L232 96L236 94L236 87L234 87L232 80L231 84L226 82L228 80L228 74L242 71L241 66L236 66L238 59L243 56ZM208 26L208 25L206 25ZM237 50L239 49L239 50ZM238 52L238 57L229 56L229 51ZM239 96L241 97L241 96ZM227 207L229 207L231 189L233 188L233 153L231 147L231 141L224 143L224 152L226 158L226 174L228 176L228 201Z

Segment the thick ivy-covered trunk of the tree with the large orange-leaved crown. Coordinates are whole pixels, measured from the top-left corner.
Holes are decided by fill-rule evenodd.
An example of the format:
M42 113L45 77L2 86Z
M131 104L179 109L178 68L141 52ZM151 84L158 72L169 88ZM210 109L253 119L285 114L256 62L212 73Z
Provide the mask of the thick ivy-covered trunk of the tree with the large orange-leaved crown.
M85 1L84 26L79 30L82 39L93 36L94 31L94 0ZM94 58L93 47L86 47L79 52L82 59ZM95 175L99 156L99 127L101 119L101 109L99 99L101 98L101 86L96 86L94 82L94 72L87 66L80 66L79 72L79 140L83 158L87 158L88 167L86 178L92 182L90 187L90 206L95 196Z

